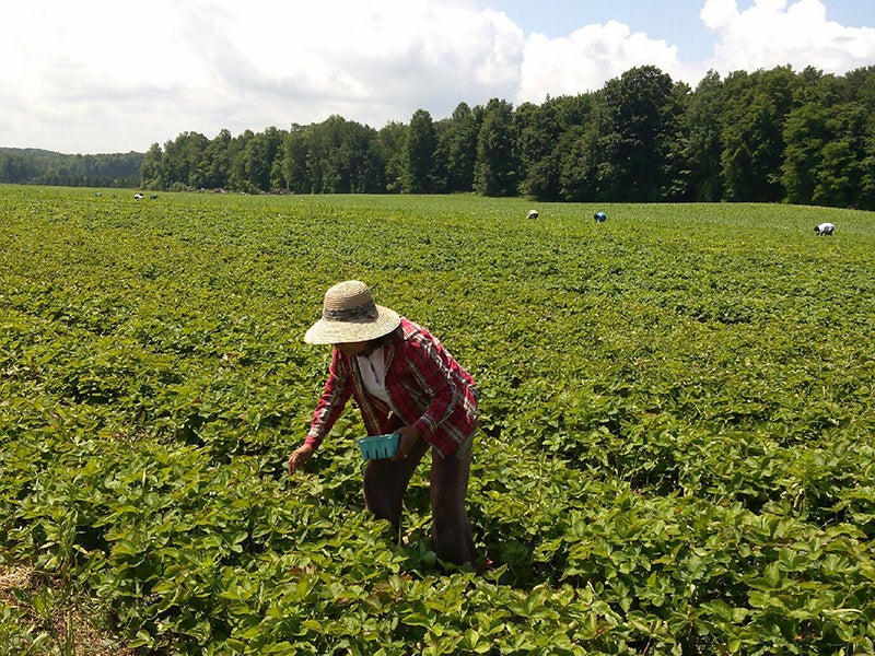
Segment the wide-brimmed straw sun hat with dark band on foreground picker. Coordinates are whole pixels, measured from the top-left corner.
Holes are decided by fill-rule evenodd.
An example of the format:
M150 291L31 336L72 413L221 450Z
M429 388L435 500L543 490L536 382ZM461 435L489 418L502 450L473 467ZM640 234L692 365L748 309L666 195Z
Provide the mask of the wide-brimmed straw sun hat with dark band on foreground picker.
M374 304L371 290L358 280L338 282L325 292L322 318L304 335L308 344L340 344L383 337L401 324L398 313Z

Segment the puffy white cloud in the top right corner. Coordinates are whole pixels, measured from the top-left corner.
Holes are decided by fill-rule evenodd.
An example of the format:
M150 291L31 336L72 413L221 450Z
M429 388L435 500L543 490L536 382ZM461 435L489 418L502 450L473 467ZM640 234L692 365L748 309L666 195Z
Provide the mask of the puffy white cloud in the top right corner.
M703 23L718 34L710 67L723 73L791 65L844 73L875 61L875 28L827 20L819 0L756 0L745 11L736 0L705 0Z

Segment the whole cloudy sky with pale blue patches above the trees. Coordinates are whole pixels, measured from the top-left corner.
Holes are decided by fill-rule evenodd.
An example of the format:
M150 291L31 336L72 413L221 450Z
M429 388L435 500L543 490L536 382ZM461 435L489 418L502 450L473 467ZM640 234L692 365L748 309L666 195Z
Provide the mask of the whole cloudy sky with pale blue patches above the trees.
M875 0L2 0L0 147L145 151L339 114L875 65Z

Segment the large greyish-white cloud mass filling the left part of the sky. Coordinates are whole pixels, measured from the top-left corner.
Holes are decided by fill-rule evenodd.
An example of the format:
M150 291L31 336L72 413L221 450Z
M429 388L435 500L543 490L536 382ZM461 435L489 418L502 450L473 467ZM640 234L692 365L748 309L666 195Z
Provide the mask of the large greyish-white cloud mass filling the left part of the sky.
M513 97L520 83L523 31L501 12L459 2L13 7L0 25L0 92L9 98L0 144L12 137L84 152L145 150L184 130L212 137L330 114L378 128L417 108L447 116L462 101Z

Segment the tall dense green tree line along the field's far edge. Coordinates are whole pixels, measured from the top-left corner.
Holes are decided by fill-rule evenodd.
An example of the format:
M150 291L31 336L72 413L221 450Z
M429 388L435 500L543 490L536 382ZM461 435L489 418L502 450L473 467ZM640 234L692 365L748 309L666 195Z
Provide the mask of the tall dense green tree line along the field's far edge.
M873 108L875 66L710 72L696 89L645 66L591 93L459 103L440 120L418 109L380 130L331 116L236 137L183 132L140 155L139 185L875 209ZM2 157L0 181L80 184L39 167L10 179Z

